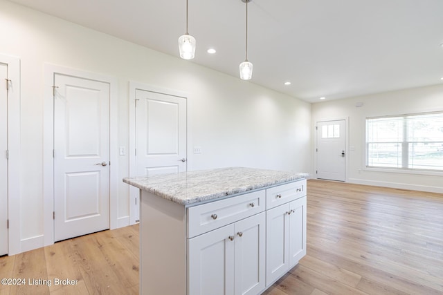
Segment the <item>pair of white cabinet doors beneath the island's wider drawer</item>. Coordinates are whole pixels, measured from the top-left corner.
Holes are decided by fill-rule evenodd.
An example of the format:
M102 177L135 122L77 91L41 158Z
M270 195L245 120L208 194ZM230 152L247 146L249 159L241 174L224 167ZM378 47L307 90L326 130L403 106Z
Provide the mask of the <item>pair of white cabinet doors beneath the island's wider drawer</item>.
M264 212L188 240L188 294L253 295L264 289Z

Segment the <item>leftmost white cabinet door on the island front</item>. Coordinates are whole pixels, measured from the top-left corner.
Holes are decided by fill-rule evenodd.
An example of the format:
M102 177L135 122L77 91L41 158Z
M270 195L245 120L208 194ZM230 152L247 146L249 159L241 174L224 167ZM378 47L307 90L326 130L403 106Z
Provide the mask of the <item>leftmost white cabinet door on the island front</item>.
M234 294L234 225L188 240L188 294Z

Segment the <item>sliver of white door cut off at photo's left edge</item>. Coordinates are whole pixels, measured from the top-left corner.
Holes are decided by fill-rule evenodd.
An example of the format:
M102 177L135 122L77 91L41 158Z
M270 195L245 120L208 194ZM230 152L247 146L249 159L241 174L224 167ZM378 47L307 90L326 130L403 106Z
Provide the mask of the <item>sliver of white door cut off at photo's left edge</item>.
M8 254L8 66L0 63L0 256Z

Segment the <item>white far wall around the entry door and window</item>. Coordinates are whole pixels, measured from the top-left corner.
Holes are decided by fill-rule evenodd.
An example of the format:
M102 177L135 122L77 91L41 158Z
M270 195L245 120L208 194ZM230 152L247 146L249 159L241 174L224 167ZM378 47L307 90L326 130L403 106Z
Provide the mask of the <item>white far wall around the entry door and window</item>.
M357 108L357 102L363 102L363 106ZM382 169L365 169L366 117L429 111L443 111L443 85L320 102L312 105L312 120L314 126L315 122L324 119L349 118L347 181L442 193L443 173L398 173L383 172ZM350 146L354 146L354 151L350 151Z

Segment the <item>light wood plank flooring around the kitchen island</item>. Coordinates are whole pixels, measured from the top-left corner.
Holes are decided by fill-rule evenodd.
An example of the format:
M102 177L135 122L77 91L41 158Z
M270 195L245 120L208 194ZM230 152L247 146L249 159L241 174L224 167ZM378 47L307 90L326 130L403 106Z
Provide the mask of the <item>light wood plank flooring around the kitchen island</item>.
M138 294L138 257L138 225L4 256L0 294ZM443 294L443 195L309 180L307 256L264 294Z

